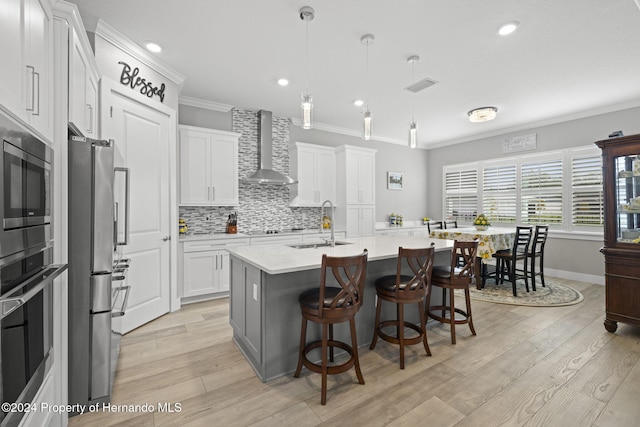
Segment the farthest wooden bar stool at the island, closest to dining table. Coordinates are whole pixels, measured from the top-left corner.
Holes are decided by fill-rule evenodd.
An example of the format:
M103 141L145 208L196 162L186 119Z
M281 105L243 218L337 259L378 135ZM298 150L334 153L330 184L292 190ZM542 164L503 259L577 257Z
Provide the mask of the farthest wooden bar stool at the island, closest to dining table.
M476 253L478 251L478 241L461 242L456 240L451 251L451 265L435 266L431 274L431 284L442 288L442 304L431 306L431 293L427 294L427 318L431 317L442 323L451 325L451 344L456 343L456 325L469 324L469 329L473 335L476 330L473 327L471 317L471 297L469 295L469 285L475 275ZM462 260L462 264L460 261ZM466 301L466 311L456 308L453 291L464 290ZM447 290L449 291L449 305L447 305ZM440 314L437 314L440 312ZM448 313L448 315L447 315ZM462 318L457 318L461 314Z

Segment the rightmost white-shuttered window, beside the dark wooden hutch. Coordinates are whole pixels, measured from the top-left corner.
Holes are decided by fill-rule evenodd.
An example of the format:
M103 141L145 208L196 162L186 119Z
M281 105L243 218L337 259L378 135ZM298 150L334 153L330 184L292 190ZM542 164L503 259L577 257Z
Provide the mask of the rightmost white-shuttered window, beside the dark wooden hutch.
M574 157L571 161L571 222L576 226L604 224L602 156Z

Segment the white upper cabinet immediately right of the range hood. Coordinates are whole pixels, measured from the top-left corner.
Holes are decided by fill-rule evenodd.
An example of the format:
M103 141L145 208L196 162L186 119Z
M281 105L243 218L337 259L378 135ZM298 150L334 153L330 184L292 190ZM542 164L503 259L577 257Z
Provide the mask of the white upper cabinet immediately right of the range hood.
M331 147L296 142L291 150L291 206L336 204L336 153Z

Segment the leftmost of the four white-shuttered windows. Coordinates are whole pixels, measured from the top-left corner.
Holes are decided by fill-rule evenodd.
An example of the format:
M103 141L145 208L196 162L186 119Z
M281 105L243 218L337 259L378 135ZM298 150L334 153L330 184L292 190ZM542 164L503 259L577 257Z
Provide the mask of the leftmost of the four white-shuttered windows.
M458 220L473 220L478 210L478 171L445 173L445 215Z

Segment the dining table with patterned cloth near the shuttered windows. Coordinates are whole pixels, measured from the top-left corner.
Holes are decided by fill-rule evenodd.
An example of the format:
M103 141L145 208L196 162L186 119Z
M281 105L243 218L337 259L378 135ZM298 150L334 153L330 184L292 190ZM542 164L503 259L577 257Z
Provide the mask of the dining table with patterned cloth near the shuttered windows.
M493 260L493 254L498 251L511 249L516 238L515 227L493 227L478 230L475 227L448 228L433 230L429 237L434 239L460 240L471 242L478 240L478 252L476 255L476 272L480 272L481 281L476 280L476 287L482 289L486 280L486 268L483 264L489 264Z

